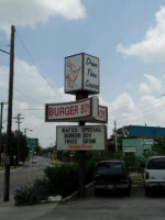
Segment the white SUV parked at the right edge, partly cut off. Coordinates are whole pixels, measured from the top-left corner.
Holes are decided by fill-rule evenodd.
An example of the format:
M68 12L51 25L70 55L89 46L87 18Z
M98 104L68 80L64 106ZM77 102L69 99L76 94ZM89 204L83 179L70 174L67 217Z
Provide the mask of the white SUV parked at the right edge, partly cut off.
M150 196L155 188L165 188L165 156L153 156L144 169L145 195Z

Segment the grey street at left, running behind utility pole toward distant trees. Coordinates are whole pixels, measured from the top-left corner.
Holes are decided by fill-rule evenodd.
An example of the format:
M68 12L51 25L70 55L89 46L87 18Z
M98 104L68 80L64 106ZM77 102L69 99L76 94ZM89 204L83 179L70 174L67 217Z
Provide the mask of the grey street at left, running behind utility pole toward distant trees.
M11 168L10 172L10 196L13 195L19 186L25 185L31 179L42 178L44 176L44 168L46 167L48 160L36 156L36 164L32 165L32 175L30 175L30 167ZM0 172L0 201L3 199L3 186L4 186L4 172Z

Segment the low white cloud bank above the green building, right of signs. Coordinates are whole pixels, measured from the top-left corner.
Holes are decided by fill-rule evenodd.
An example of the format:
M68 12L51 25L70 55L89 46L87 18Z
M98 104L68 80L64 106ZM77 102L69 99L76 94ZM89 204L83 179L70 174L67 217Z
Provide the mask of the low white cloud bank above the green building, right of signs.
M133 99L129 94L121 94L109 107L109 135L114 128L123 125L165 127L165 97L142 96L140 100Z

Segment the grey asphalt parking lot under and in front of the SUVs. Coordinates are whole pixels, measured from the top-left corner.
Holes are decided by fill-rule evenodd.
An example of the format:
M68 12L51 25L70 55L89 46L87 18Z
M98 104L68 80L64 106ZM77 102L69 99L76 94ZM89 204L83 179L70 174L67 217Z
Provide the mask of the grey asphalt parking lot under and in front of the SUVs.
M55 207L37 220L164 220L165 195L145 197L143 186L133 186L131 197L96 197L91 188L84 199Z

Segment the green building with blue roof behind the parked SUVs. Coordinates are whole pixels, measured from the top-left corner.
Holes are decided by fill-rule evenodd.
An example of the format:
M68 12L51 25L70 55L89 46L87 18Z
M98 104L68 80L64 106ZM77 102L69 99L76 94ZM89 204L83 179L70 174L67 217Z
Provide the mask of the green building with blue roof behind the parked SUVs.
M129 125L122 128L122 151L138 156L152 150L155 138L165 138L165 128Z

